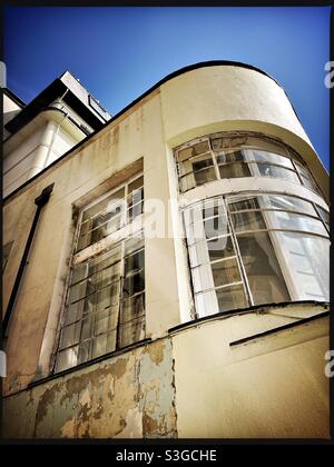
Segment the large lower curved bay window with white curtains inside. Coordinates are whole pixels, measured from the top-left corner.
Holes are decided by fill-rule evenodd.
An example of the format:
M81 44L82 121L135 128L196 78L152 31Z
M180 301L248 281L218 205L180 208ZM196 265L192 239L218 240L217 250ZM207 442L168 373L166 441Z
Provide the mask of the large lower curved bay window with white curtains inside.
M219 196L184 211L198 317L254 305L327 301L327 212L295 196Z

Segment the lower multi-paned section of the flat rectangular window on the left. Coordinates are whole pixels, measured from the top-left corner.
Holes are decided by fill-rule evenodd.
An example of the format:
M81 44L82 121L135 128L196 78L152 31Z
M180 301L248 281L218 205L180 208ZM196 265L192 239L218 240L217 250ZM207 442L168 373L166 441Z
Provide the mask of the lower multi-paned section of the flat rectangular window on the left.
M143 237L72 268L56 371L145 338Z

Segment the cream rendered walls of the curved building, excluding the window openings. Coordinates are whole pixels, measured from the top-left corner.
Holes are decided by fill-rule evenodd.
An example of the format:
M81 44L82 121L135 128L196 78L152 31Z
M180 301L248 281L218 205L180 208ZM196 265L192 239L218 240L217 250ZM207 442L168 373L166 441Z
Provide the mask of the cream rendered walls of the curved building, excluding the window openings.
M217 132L284 142L304 159L322 192L245 177L180 193L173 151ZM150 200L158 200L169 231L145 238L146 339L53 375L78 212L139 172L144 219L154 211ZM180 209L218 195L289 193L327 209L327 173L279 85L240 64L185 70L9 196L3 244L13 247L3 276L3 310L33 200L50 183L6 339L4 437L328 438L327 304L268 302L195 319L187 248L178 236Z

